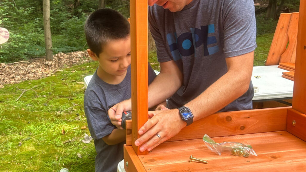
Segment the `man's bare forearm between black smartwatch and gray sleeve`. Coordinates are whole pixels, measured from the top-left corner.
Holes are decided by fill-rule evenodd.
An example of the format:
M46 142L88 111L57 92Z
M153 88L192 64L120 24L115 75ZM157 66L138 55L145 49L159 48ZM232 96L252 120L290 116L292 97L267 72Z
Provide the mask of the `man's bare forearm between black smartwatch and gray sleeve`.
M246 64L237 65L234 70L229 68L226 74L185 105L191 109L194 121L216 113L248 90L254 55L253 52L245 55L248 59L248 62L244 61Z

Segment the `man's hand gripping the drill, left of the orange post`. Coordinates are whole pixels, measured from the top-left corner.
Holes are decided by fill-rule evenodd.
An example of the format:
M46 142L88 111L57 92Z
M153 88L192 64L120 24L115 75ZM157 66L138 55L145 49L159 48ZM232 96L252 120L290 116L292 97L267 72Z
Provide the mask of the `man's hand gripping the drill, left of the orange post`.
M128 110L132 110L131 99L115 104L107 112L110 117L110 122L116 125L118 129L123 129L121 126L122 113Z

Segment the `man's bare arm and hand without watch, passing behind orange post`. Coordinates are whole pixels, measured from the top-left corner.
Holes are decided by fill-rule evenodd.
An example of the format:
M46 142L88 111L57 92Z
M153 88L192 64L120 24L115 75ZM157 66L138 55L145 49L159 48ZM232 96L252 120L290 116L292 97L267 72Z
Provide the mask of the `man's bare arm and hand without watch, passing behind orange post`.
M148 88L148 107L162 103L173 95L182 85L183 75L174 60L160 63L160 73L156 76ZM108 110L110 121L117 128L121 127L122 113L132 110L131 99L117 103Z

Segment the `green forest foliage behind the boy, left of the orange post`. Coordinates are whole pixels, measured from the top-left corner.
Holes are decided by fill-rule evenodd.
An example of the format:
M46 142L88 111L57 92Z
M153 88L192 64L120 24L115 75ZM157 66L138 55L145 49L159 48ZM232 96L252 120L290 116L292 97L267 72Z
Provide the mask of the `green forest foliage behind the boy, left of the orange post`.
M28 60L45 55L43 4L35 0L0 0L0 26L9 30L8 42L0 47L0 63ZM51 0L50 25L53 53L85 50L84 23L98 8L99 0ZM129 1L109 0L106 7L129 17Z

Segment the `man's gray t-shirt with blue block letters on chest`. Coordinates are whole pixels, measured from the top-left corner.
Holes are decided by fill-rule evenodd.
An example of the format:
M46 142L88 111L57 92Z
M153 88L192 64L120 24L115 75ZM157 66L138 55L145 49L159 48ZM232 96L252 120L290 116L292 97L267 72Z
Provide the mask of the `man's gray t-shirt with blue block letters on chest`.
M222 77L227 72L225 58L256 48L252 0L193 0L175 13L156 4L148 9L158 61L174 60L184 77L168 99L170 108L183 106ZM244 95L220 111L252 109L253 96L251 82Z

